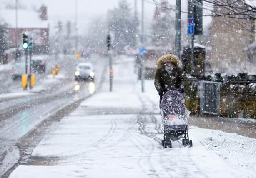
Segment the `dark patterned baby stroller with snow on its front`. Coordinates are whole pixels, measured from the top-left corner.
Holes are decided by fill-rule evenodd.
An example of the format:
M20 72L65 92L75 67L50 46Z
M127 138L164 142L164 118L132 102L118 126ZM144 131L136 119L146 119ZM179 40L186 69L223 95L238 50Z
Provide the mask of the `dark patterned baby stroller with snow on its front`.
M171 148L171 141L183 138L182 145L192 147L192 140L188 137L188 118L183 95L177 90L169 90L163 96L160 108L164 131L162 146Z

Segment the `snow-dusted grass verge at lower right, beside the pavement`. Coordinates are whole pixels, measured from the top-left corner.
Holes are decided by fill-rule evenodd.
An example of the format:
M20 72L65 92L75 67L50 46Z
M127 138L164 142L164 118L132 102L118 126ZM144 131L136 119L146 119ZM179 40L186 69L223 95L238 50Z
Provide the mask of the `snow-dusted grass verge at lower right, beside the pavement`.
M220 130L190 127L190 133L244 177L255 177L256 139Z

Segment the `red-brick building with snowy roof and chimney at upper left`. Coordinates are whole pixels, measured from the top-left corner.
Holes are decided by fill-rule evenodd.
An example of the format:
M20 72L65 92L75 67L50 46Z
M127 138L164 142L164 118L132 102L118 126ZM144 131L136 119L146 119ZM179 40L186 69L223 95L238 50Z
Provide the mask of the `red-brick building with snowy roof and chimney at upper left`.
M3 9L0 17L8 24L9 47L22 45L23 33L33 39L34 53L48 53L49 24L47 20L47 7L42 5L38 11L18 9L18 23L16 28L15 9ZM16 40L17 35L17 40Z

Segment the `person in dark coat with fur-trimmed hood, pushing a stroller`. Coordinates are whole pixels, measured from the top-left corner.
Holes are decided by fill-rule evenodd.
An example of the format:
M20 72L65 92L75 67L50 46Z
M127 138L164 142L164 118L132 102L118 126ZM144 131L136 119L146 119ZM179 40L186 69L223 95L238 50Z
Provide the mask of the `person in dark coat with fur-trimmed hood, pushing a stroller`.
M173 54L165 54L156 61L156 65L155 87L160 96L160 103L168 90L175 89L184 93L184 74L179 58Z

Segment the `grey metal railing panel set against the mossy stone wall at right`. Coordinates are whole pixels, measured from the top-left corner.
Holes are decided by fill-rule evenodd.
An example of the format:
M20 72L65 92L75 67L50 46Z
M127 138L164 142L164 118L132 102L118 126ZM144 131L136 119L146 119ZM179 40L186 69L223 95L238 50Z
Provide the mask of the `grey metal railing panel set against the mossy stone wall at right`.
M219 115L220 113L220 82L201 81L200 113Z

